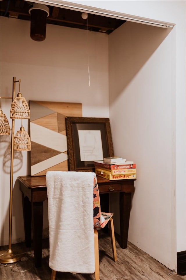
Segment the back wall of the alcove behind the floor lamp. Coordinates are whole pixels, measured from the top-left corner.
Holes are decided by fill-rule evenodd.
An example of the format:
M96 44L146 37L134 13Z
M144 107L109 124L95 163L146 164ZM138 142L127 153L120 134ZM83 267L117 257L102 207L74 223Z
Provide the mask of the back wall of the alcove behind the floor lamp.
M108 117L108 36L89 32L90 87L87 69L87 31L47 25L46 39L30 38L30 22L1 17L1 96L12 96L12 77L21 79L27 101L80 102L84 117ZM16 85L16 94L19 87ZM1 100L9 117L11 101ZM11 122L10 122L11 123ZM27 129L28 120L23 120ZM15 132L21 121L15 120ZM1 244L8 244L10 174L3 171L4 152L10 136L1 136ZM30 174L28 153L22 152L22 167L16 178ZM16 163L17 160L14 161ZM10 162L8 162L10 165ZM48 226L44 202L44 228ZM46 232L47 233L47 232ZM22 197L19 184L13 188L12 243L24 240Z

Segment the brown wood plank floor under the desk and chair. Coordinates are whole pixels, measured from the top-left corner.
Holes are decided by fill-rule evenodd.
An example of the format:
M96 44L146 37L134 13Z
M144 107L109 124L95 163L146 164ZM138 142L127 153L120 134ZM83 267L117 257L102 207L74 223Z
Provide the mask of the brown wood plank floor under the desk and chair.
M116 241L118 261L112 260L110 237L99 231L100 280L186 280L151 258L148 254L128 242L127 249L121 249ZM6 249L3 246L2 249ZM33 248L24 243L12 245L13 250L22 250L25 260L2 265L1 280L50 280L49 240L43 240L42 267L34 267ZM56 280L94 280L94 274L71 274L57 272Z

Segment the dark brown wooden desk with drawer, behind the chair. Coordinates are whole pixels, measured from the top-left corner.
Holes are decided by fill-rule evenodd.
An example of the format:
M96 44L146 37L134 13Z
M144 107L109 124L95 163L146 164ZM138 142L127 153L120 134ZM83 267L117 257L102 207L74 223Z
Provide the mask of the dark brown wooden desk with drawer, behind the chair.
M23 197L26 246L31 247L32 225L35 267L40 267L42 260L43 201L47 199L46 178L45 176L19 176L18 180ZM97 176L100 195L111 192L119 192L120 194L120 246L123 249L127 247L131 193L134 192L134 181L133 179L109 181ZM108 208L108 205L106 208ZM108 209L105 209L105 205L102 207L102 211L108 211Z

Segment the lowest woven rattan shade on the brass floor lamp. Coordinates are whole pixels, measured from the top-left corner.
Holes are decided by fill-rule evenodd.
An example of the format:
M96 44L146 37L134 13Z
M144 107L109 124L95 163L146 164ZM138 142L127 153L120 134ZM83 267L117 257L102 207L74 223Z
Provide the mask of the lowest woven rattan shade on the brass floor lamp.
M31 141L28 132L21 127L14 136L14 150L15 151L30 151Z

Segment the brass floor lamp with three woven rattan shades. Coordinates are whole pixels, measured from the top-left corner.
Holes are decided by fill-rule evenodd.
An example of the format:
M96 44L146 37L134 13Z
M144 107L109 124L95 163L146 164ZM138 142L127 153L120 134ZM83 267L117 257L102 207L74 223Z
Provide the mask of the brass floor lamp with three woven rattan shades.
M15 97L15 85L19 82L19 93ZM12 105L10 109L10 118L12 119L12 131L11 131L11 160L10 160L10 204L9 204L9 239L8 239L8 250L1 252L0 262L1 263L13 263L21 259L22 254L12 251L12 191L13 191L13 161L14 161L14 150L15 151L30 151L31 141L28 133L24 130L21 125L19 131L14 136L14 122L15 119L29 119L30 109L25 98L22 97L20 92L21 80L16 81L13 77L12 85L12 97L0 97L1 99L12 99ZM3 114L0 106L0 135L10 134L10 125L6 115Z

